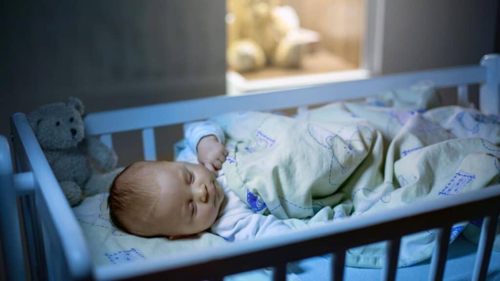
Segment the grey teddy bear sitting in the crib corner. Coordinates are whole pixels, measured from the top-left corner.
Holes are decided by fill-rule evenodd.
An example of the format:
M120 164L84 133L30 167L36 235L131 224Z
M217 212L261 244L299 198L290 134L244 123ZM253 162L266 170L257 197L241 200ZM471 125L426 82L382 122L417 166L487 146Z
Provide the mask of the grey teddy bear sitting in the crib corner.
M71 206L83 196L106 191L112 177L106 173L115 173L112 170L117 161L115 152L99 139L84 137L83 109L78 98L69 97L65 103L46 104L28 114L29 124Z

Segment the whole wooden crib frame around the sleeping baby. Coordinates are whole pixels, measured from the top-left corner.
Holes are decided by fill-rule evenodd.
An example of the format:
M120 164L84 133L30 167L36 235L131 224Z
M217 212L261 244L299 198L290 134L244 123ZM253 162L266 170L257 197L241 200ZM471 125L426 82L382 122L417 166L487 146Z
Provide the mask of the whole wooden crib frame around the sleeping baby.
M85 134L112 146L112 134L141 130L144 159L155 160L154 128L204 119L236 110L297 108L343 99L361 98L384 90L432 80L437 88L456 87L458 104L468 103L468 85L480 84L479 107L500 113L500 55L485 55L479 65L397 74L304 88L243 96L216 96L88 114ZM189 110L187 110L189 109ZM154 116L154 118L152 118ZM381 279L394 280L403 235L437 228L436 246L428 278L443 277L448 237L453 222L484 217L472 279L484 280L500 211L500 184L445 199L421 202L383 215L366 215L298 230L244 244L228 244L216 251L179 254L129 265L92 265L85 237L53 175L23 113L11 118L16 173L12 172L7 139L0 137L1 223L7 279L50 280L210 279L257 268L272 267L273 280L286 278L286 264L332 254L331 279L342 280L348 248L387 241ZM16 198L20 201L19 224ZM390 231L389 231L390 229ZM21 236L20 233L23 232ZM370 235L363 235L369 232ZM27 265L23 262L25 237ZM325 246L327 245L327 246Z

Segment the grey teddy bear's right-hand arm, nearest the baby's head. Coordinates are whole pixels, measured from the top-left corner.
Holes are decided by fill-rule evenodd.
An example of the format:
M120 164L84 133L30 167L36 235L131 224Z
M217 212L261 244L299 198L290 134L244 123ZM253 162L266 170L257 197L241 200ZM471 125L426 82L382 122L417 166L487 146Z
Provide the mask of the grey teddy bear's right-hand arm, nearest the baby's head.
M114 150L97 138L85 137L81 141L80 149L103 171L110 171L116 166L117 157Z

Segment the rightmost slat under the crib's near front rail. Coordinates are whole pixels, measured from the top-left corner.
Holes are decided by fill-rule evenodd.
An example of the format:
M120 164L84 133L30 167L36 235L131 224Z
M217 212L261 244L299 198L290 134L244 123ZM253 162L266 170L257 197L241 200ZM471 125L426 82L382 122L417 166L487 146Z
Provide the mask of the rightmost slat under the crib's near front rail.
M481 227L479 244L477 245L477 255L475 257L472 280L485 280L488 272L489 259L491 258L491 248L495 239L496 224L498 223L498 211L491 216L484 217Z

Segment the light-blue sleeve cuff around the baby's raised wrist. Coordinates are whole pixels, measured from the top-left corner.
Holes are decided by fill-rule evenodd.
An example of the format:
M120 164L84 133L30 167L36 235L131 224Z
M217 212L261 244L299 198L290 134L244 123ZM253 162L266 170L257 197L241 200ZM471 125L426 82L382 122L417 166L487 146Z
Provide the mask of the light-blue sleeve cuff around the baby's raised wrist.
M210 134L215 135L220 143L224 143L224 131L222 128L213 121L200 121L185 123L183 126L184 138L187 147L196 154L196 146L203 136Z

